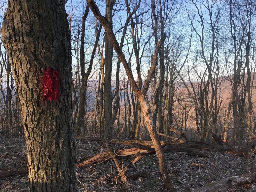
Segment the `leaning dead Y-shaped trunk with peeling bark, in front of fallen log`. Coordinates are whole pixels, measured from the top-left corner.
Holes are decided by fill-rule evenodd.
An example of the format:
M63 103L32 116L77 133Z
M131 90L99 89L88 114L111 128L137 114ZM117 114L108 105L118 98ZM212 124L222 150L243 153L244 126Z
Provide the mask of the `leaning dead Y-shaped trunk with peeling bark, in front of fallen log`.
M136 95L136 97L138 98L138 101L140 102L141 111L142 111L144 119L145 119L145 124L147 125L149 135L151 137L151 140L153 142L153 145L154 145L154 148L156 151L156 155L159 160L159 167L160 167L160 172L162 174L164 188L172 189L171 182L169 179L168 169L167 169L167 165L166 165L166 160L164 157L164 152L163 152L163 149L160 144L160 140L159 140L157 132L156 132L156 126L153 123L151 111L150 111L150 108L148 107L148 101L146 100L148 86L149 86L150 81L155 72L155 68L156 68L156 64L157 64L157 56L158 56L160 48L162 47L162 44L164 43L166 35L164 34L162 36L162 38L156 44L156 50L154 52L154 55L153 55L153 58L151 61L151 66L148 71L147 78L145 80L143 88L140 90L138 85L135 82L135 79L132 75L132 70L128 65L128 62L124 56L124 53L120 49L120 46L116 40L116 37L113 33L111 24L109 23L109 21L107 20L106 17L103 17L101 15L97 5L95 4L95 2L93 0L87 0L87 3L89 5L90 9L92 10L93 14L95 15L95 17L100 21L101 25L104 27L105 32L108 35L108 38L112 42L114 50L116 51L119 59L121 60L123 66L125 68L125 71L127 73L128 79L131 83L134 94Z

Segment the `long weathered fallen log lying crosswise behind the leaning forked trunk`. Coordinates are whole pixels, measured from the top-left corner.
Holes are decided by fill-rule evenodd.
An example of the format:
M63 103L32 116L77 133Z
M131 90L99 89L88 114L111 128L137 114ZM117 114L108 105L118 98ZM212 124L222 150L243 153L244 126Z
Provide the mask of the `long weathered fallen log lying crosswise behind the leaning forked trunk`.
M134 148L128 148L128 149L122 149L122 150L116 150L115 151L115 157L119 159L125 159L130 156L138 156L144 157L148 155L155 154L155 149L153 147L152 142L150 141L138 141L138 140L132 140L132 141L122 141L122 140L106 140L103 138L87 138L87 137L79 137L79 139L84 140L90 140L90 141L104 141L112 144L122 144L122 145L130 145ZM202 151L211 151L211 152L217 152L217 151L228 151L233 154L238 154L237 149L232 148L228 145L219 145L219 144L208 144L204 142L197 142L197 141L189 141L184 142L183 140L180 141L178 138L169 139L166 141L161 142L161 146L163 147L164 153L171 153L171 152L187 152L188 155L191 156L200 156L200 157L206 157L207 155ZM242 151L241 151L242 154ZM77 164L77 167L84 167L88 165L94 165L103 163L109 159L111 159L112 156L109 155L108 151L100 153L90 159L87 159L79 164Z

